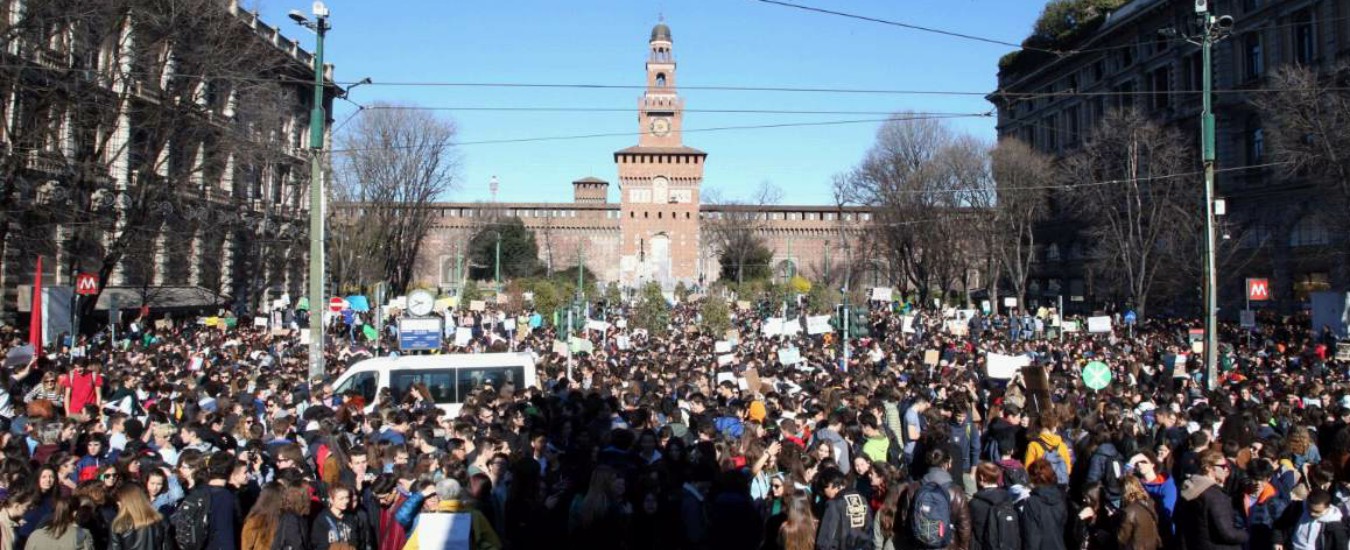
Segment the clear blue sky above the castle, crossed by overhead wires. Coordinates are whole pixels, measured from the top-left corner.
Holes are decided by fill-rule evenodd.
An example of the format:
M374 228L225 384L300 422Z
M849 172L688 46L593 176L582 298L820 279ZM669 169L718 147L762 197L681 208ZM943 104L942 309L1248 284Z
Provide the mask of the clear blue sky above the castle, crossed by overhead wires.
M819 8L1021 42L1038 0L794 0ZM312 49L286 19L305 0L255 0L265 20ZM610 153L637 143L639 89L412 86L396 82L540 82L643 85L647 39L664 14L680 86L772 86L990 92L1011 47L806 12L756 0L328 0L327 61L338 80L375 81L358 103L448 108L459 128L459 186L447 200L570 201L583 176L616 180ZM686 108L980 114L980 96L683 91ZM473 107L612 108L616 112L462 111ZM340 103L335 118L355 107ZM358 115L360 116L360 115ZM829 204L830 180L871 146L878 122L688 132L693 128L875 120L884 115L687 112L684 143L709 153L703 188L747 196L760 182L786 204ZM992 142L994 120L952 124ZM473 142L632 132L525 143ZM617 185L610 189L617 200Z

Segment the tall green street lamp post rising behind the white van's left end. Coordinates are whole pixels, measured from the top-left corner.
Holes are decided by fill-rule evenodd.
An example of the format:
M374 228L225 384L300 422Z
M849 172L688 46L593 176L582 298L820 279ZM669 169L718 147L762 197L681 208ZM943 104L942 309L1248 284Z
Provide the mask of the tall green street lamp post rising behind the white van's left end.
M324 376L324 34L328 8L321 1L313 5L315 20L292 9L290 19L315 31L315 105L309 111L309 377Z

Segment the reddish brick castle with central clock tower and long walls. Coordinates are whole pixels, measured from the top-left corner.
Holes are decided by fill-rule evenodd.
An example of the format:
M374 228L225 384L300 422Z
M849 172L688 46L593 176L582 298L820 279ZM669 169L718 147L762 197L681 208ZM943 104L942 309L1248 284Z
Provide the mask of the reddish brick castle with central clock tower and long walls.
M639 142L613 153L618 203L610 184L595 177L572 182L570 203L437 203L433 228L417 264L417 282L452 288L456 264L485 216L518 218L535 232L540 262L567 269L585 262L602 281L636 286L648 281L674 286L718 278L718 250L709 223L736 211L752 211L756 231L774 250L779 276L842 278L846 258L861 258L867 208L837 205L718 205L701 200L709 154L684 145L684 100L676 88L671 30L652 28L647 89L637 101ZM853 246L852 250L848 247ZM855 261L857 281L884 284L884 266Z

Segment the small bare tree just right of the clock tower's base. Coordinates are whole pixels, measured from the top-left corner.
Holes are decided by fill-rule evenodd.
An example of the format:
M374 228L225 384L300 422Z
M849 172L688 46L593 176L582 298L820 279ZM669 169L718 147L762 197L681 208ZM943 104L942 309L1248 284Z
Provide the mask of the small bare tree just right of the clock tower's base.
M711 191L703 195L705 203L720 207L716 218L705 220L703 230L721 257L722 272L734 270L736 284L745 282L747 268L759 268L749 264L764 249L761 231L768 219L757 207L778 204L782 199L782 189L768 181L761 181L745 200L722 197Z

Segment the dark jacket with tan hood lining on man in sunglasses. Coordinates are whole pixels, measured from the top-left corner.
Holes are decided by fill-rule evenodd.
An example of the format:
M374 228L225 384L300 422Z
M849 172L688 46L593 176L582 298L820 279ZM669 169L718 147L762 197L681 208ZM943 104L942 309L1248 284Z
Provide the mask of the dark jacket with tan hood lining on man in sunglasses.
M1249 538L1238 527L1233 501L1208 476L1195 474L1181 484L1174 519L1185 550L1239 550Z

